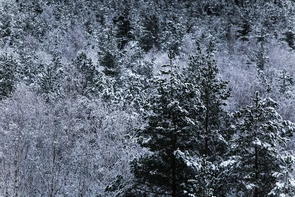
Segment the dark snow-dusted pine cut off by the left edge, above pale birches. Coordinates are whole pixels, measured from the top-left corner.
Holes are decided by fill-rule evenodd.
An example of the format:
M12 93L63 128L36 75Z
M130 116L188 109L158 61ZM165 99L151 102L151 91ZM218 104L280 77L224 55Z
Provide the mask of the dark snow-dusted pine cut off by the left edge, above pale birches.
M12 55L0 54L0 99L10 95L17 82L18 63Z

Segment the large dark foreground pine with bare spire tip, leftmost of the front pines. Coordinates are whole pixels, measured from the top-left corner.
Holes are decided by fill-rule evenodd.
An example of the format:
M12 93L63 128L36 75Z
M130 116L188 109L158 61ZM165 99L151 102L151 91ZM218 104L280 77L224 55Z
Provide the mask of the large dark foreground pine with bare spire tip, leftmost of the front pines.
M150 154L135 159L131 170L135 175L132 192L148 197L187 197L189 179L194 170L177 156L177 152L196 152L200 109L198 87L185 81L178 66L172 64L175 54L168 55L169 70L160 70L160 76L151 80L154 91L143 106L146 125L138 135ZM127 195L128 196L128 195Z

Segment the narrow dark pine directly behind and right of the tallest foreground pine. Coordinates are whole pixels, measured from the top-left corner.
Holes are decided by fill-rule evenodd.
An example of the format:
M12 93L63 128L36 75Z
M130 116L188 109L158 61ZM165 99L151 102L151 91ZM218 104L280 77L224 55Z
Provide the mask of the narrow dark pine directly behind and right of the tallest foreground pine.
M199 132L199 152L206 155L207 161L213 162L222 157L226 149L226 139L230 133L226 130L227 112L224 110L226 100L231 96L229 81L217 77L219 73L215 60L209 55L202 54L197 48L196 55L190 56L185 68L187 81L199 86L201 100L205 108L199 121L202 125Z

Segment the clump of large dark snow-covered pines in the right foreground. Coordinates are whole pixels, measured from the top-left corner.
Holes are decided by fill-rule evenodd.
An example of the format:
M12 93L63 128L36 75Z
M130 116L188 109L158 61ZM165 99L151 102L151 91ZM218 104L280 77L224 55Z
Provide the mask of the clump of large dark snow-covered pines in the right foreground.
M135 179L107 191L117 196L294 195L289 174L294 157L286 147L295 124L275 111L277 102L257 92L253 105L229 114L222 106L231 89L217 78L214 60L198 48L179 72L174 55L170 51L171 64L163 66L169 69L151 80L155 92L143 104L146 124L136 135L148 152L131 162Z

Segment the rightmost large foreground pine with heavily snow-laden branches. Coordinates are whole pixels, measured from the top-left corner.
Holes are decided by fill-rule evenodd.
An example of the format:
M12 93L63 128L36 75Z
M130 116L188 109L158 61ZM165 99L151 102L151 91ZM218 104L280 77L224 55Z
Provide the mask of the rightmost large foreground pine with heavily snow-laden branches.
M236 113L238 121L233 127L229 157L222 166L233 195L265 197L275 187L275 173L282 173L284 165L281 150L290 140L288 133L294 124L283 121L270 98L261 99L256 93L254 104Z

